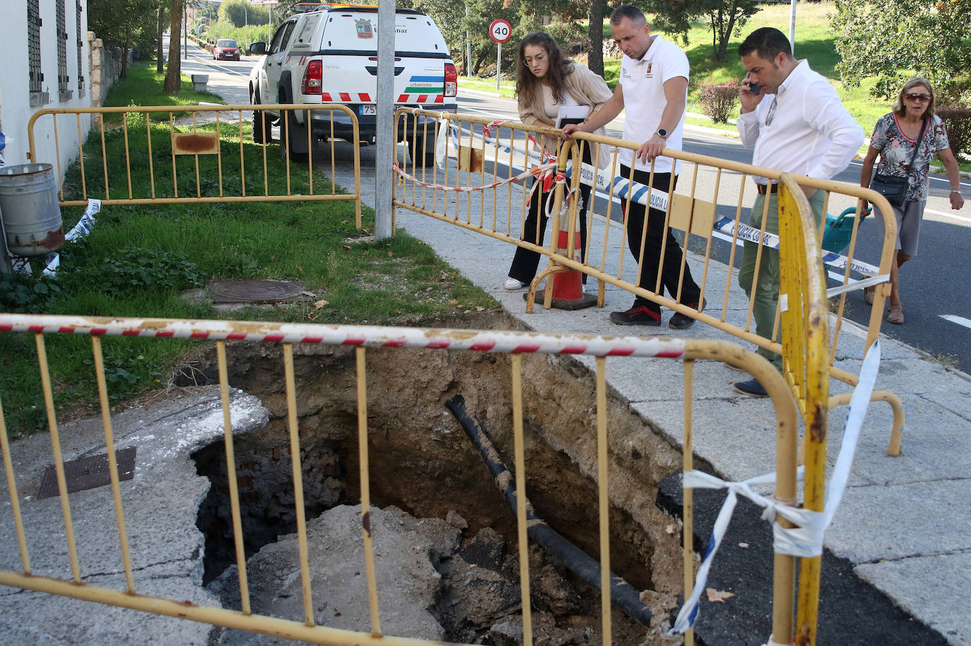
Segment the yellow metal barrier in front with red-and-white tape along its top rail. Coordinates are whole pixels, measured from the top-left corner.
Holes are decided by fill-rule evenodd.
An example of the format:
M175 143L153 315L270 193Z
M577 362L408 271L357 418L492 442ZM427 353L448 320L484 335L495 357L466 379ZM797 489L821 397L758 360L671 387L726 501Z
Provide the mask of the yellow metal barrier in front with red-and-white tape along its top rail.
M36 315L0 315L0 332L33 334L37 346L38 360L41 369L41 388L44 391L47 405L48 422L50 425L50 439L52 445L52 461L57 469L57 490L60 495L61 513L63 515L66 533L64 535L65 552L70 558L70 573L66 576L48 577L33 573L34 569L50 567L50 563L31 560L27 549L26 529L30 527L31 513L35 507L34 501L21 504L21 493L17 492L17 473L15 463L11 459L11 446L7 438L2 408L0 408L0 446L3 450L4 469L7 475L7 485L11 499L11 524L13 527L0 527L4 533L10 535L16 532L17 543L20 548L22 567L20 571L0 569L0 584L13 586L25 590L45 592L52 595L65 595L97 603L134 608L145 612L171 617L180 617L197 622L218 626L261 632L286 638L302 639L320 644L430 644L433 642L412 639L408 635L385 635L381 629L379 612L379 590L374 576L375 554L371 545L372 527L368 522L370 511L370 494L368 483L371 479L368 461L368 401L369 383L366 369L367 353L371 349L422 349L423 352L471 352L505 354L510 359L510 390L506 405L512 410L514 422L514 439L516 454L515 482L516 488L522 495L517 496L518 508L518 547L521 593L521 608L523 612L524 643L531 644L529 608L529 571L526 545L526 486L525 473L528 468L525 463L523 429L523 401L521 383L521 361L523 355L529 354L568 354L595 357L596 381L596 410L589 411L591 419L581 420L579 423L594 426L597 433L596 464L597 488L600 509L600 555L602 581L610 571L610 543L611 527L606 510L610 495L608 488L608 452L609 434L607 427L607 397L606 370L608 361L627 360L623 357L657 357L673 358L684 361L685 365L685 444L684 463L686 470L692 467L692 391L693 370L697 360L717 360L748 370L766 388L771 396L776 417L776 470L778 484L776 495L781 500L795 500L795 459L796 459L796 403L782 376L763 357L758 357L739 346L721 341L682 340L675 338L640 337L604 337L590 335L552 335L503 331L475 331L475 330L437 330L419 328L374 327L352 325L318 325L318 324L283 324L283 323L247 323L225 321L173 321L151 319L121 319L121 318L85 318L70 316L36 316ZM111 486L115 504L115 518L117 527L111 527L107 521L110 513L107 509L99 521L103 529L100 542L103 546L117 545L120 561L124 566L125 588L117 590L105 586L91 585L85 582L85 577L91 572L84 570L84 562L79 558L78 547L72 525L72 511L69 494L64 478L63 456L61 455L57 415L53 407L50 376L45 354L45 337L49 334L80 334L91 337L91 352L96 369L98 382L98 396L101 405L102 424L104 428L105 446L109 456L115 454L115 441L112 432L112 414L109 405L109 392L106 387L104 365L101 356L101 339L104 336L141 336L156 339L194 338L215 341L217 346L218 381L222 402L222 424L224 429L226 463L229 467L228 482L230 490L230 506L232 516L232 533L235 539L236 564L239 568L239 592L242 599L240 610L229 610L214 606L201 606L183 601L178 598L164 598L145 595L136 589L132 577L131 551L137 549L129 544L125 530L125 516L122 505L122 493L126 485L119 482L117 463L110 460ZM285 420L289 437L289 455L292 460L293 500L297 510L297 534L299 537L300 577L302 579L302 595L304 602L304 621L282 619L251 612L250 591L247 582L247 561L243 547L243 529L240 520L240 492L237 478L233 470L236 455L233 446L233 425L229 415L229 385L227 377L226 341L235 344L282 344L284 358L285 385ZM164 342L164 341L163 341ZM301 434L298 429L296 403L296 374L294 371L293 347L307 345L353 346L356 366L357 393L357 429L358 456L360 464L360 494L361 494L361 537L367 564L367 588L371 608L371 628L356 631L333 629L320 626L315 620L312 605L310 574L308 565L307 528L301 511L304 508L303 477L300 464ZM499 395L501 396L501 395ZM595 418L595 419L594 419ZM173 441L178 441L174 438ZM616 451L616 449L614 449ZM613 468L613 467L612 467ZM151 470L136 475L136 478L151 478ZM117 533L115 533L117 528ZM159 531L165 528L160 527ZM113 537L114 535L114 537ZM691 555L692 540L691 523L691 492L685 492L685 582L686 595L690 594L693 579L693 558ZM11 536L11 538L13 538ZM54 537L49 536L50 542ZM116 542L117 541L117 542ZM13 540L11 540L13 543ZM99 549L104 549L99 548ZM773 634L775 641L780 644L788 643L785 635L791 635L793 615L793 559L777 556L776 588L773 609ZM677 591L673 591L677 592ZM604 587L602 598L602 627L605 636L604 643L611 643L611 604L608 587ZM687 636L690 643L691 635Z

